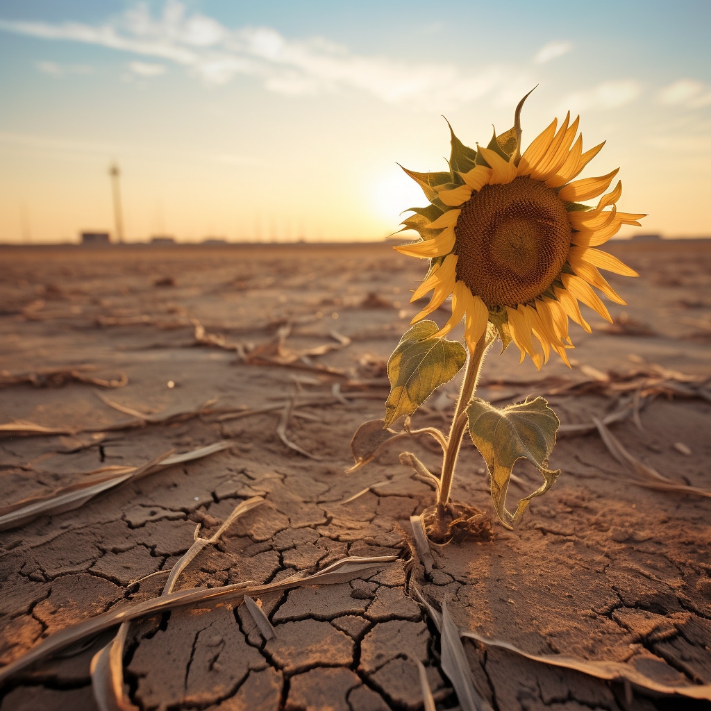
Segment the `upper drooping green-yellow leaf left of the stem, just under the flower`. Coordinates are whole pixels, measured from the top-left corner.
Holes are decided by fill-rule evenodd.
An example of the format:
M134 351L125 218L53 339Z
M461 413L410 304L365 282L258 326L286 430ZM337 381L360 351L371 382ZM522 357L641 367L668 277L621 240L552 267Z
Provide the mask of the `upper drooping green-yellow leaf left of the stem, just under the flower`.
M390 395L385 401L385 422L389 427L402 415L412 415L432 392L459 373L466 350L459 341L434 336L439 326L420 321L400 338L387 361Z

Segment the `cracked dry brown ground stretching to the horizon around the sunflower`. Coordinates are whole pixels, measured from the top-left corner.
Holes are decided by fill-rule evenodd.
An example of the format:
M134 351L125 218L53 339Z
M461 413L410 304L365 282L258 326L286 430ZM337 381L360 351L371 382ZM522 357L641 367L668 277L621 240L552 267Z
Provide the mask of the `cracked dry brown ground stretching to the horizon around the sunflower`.
M438 709L467 708L442 665L443 605L483 638L463 637L479 707L711 707L708 686L698 700L687 693L711 685L711 242L611 250L642 277L610 279L629 301L611 305L614 324L591 313L592 334L572 326L574 368L538 373L513 349L492 352L478 394L498 405L545 395L564 425L624 411L608 427L627 463L594 426L567 427L550 461L562 475L516 530L493 523L493 541L432 547L430 558L410 517L433 493L399 454L437 473L434 440L400 439L344 474L355 429L383 417L385 363L419 310L408 302L422 262L388 245L2 248L0 515L169 453L225 449L0 533L0 663L159 597L196 526L209 538L260 496L176 589L279 582L346 556L395 560L257 596L273 632L240 599L134 621L124 708L419 709L418 661ZM446 430L457 387L438 391L415 426ZM525 466L515 473L510 496L538 486ZM471 442L454 498L493 516ZM0 709L99 708L90 661L115 631L11 674ZM497 641L620 663L633 682ZM655 693L645 679L684 691Z

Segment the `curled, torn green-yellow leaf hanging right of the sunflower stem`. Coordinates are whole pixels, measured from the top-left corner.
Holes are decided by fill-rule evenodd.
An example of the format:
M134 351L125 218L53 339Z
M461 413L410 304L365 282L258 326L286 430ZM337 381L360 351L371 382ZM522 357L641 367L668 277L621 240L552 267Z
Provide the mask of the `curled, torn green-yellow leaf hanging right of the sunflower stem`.
M503 525L513 528L530 500L548 491L560 474L560 469L547 469L560 421L542 397L507 405L501 410L475 397L466 414L471 439L491 476L493 506ZM533 493L518 501L512 514L506 508L508 484L513 465L524 458L540 471L544 481Z

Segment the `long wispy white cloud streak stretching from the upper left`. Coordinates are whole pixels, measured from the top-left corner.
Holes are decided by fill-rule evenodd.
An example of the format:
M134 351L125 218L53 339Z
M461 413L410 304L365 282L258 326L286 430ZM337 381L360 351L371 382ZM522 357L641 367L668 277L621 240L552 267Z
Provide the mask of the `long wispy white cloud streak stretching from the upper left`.
M225 84L237 75L257 77L267 90L284 95L357 89L392 104L427 102L442 110L483 97L504 83L510 84L513 77L525 78L526 85L533 81L523 68L410 63L358 55L324 38L287 39L269 27L232 29L203 14L188 14L175 0L169 0L157 17L139 4L95 26L0 19L0 29L173 62L211 85ZM548 58L567 51L564 45L547 46ZM137 70L137 66L147 68L149 63L134 62L132 69L143 76L151 75L152 70Z

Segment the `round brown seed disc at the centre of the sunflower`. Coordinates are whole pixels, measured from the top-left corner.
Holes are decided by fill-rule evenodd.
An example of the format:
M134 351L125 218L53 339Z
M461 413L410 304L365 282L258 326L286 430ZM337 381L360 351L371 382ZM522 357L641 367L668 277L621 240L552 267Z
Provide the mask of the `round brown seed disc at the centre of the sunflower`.
M456 278L489 307L540 296L567 260L572 233L555 191L521 176L472 193L456 221Z

